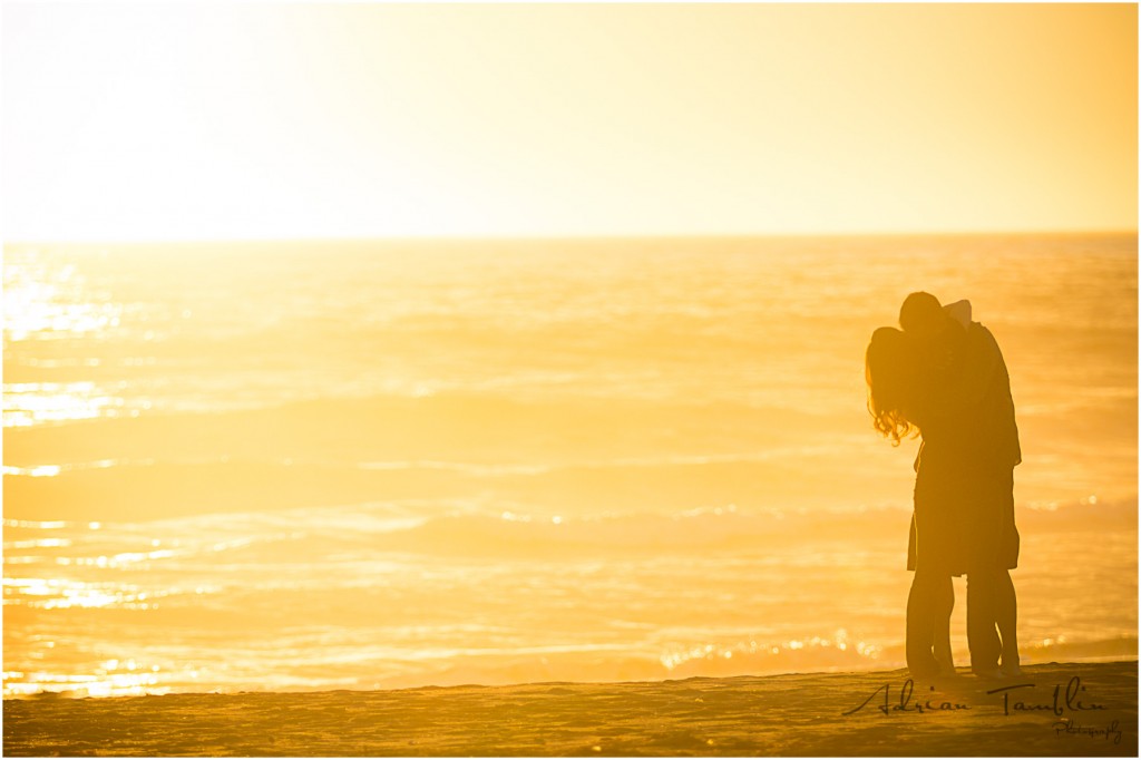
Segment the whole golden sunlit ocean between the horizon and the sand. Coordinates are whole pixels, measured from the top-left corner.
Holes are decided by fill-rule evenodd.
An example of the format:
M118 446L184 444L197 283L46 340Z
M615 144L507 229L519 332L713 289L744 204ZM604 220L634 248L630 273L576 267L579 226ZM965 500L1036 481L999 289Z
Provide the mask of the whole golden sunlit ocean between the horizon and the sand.
M1135 657L1135 234L8 244L3 694L901 666L915 290L1010 369L1023 662Z

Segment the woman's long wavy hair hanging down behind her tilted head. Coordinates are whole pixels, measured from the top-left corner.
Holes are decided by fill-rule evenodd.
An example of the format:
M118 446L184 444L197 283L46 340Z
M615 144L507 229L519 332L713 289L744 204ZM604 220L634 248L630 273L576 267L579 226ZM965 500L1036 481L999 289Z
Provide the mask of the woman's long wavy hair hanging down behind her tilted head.
M915 393L915 373L911 339L903 331L880 328L872 333L864 356L867 411L872 413L872 425L893 446L920 431L907 418Z

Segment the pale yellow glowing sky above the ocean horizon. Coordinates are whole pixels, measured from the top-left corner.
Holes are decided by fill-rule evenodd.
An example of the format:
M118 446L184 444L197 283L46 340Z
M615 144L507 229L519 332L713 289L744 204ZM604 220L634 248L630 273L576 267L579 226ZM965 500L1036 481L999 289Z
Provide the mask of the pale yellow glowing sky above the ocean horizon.
M0 233L1133 231L1136 13L5 2Z

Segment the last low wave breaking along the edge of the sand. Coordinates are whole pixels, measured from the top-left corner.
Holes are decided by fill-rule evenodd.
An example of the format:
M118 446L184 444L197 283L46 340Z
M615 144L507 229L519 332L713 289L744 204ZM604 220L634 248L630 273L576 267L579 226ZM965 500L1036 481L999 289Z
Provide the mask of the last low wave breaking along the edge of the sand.
M523 646L518 648L440 648L402 650L391 647L326 647L306 650L301 662L290 652L266 652L233 668L189 664L140 656L110 660L95 672L3 673L5 698L128 696L188 692L308 692L334 688L416 688L511 684L663 681L688 678L735 678L782 673L897 670L906 666L900 644L881 647L853 640L843 630L804 639L670 645L659 650L637 646ZM955 653L965 665L965 652ZM1022 664L1131 661L1136 637L1089 641L1031 642L1021 649ZM161 662L162 664L157 664ZM152 664L155 663L155 664Z

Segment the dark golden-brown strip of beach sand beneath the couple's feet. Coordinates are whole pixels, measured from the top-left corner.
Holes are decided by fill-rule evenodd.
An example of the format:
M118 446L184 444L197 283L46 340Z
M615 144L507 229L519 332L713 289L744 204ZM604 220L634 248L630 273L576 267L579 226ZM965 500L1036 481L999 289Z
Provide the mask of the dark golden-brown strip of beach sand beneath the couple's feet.
M901 695L907 679L906 671L881 671L388 692L6 700L3 752L9 757L1138 754L1136 661L1041 664L1006 681L985 681L961 671L936 684L914 684L911 700ZM988 694L1003 687L1015 688ZM899 709L901 704L909 709ZM926 704L952 709L928 710Z

